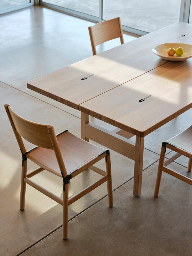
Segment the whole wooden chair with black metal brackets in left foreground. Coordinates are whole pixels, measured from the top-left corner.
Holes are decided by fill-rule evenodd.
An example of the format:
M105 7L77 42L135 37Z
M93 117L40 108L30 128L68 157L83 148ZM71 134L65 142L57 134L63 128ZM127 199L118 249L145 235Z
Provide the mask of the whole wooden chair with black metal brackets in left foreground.
M68 206L70 204L104 182L107 182L109 206L113 206L109 150L92 145L68 130L55 135L52 125L30 122L17 115L10 108L9 104L4 106L23 157L20 194L21 210L24 210L25 207L25 187L27 183L63 206L63 239L67 239ZM26 151L22 137L37 146ZM28 174L27 158L40 166ZM105 158L106 172L93 166L102 158ZM94 170L104 177L69 199L69 180L87 168ZM63 200L30 180L31 177L44 169L63 178Z

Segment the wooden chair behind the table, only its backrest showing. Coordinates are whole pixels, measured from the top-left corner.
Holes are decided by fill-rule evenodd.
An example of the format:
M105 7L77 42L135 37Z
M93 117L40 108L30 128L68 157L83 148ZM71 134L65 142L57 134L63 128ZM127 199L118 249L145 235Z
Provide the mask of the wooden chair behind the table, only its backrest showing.
M95 46L100 45L106 41L120 37L121 45L124 44L120 17L105 20L91 27L88 27L88 29L93 55L97 54Z

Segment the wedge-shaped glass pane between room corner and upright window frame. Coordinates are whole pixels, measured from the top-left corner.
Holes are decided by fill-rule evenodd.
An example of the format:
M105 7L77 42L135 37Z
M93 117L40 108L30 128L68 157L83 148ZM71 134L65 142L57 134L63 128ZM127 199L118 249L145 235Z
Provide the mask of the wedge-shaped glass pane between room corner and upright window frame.
M44 0L42 2L99 17L99 0Z

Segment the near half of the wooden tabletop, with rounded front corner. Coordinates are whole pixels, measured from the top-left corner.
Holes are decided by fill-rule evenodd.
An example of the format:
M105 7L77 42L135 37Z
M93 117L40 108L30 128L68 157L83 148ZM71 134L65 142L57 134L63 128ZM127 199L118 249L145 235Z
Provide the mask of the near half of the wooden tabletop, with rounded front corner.
M188 59L168 62L84 102L79 110L144 137L191 107L192 59Z

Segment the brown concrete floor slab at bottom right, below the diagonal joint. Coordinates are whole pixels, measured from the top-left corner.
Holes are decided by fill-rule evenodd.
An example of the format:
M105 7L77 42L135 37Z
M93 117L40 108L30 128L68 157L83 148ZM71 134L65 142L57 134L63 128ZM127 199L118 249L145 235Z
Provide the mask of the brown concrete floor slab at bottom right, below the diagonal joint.
M21 255L189 256L192 188L163 173L160 194L155 198L157 165L143 172L139 198L131 195L131 180L113 192L112 208L104 198L71 220L68 240L62 240L60 228ZM186 168L176 163L172 168L186 174Z

